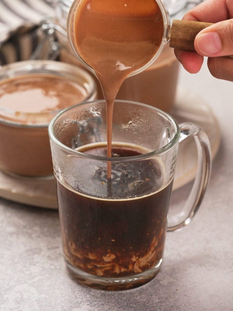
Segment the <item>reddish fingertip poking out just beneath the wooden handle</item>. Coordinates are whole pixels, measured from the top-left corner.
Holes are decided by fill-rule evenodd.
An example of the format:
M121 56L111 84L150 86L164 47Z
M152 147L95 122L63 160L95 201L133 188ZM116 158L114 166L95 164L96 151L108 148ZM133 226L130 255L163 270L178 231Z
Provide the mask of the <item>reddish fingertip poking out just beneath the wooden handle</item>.
M199 72L203 64L203 56L195 52L188 52L178 49L174 49L174 53L185 70L190 73Z

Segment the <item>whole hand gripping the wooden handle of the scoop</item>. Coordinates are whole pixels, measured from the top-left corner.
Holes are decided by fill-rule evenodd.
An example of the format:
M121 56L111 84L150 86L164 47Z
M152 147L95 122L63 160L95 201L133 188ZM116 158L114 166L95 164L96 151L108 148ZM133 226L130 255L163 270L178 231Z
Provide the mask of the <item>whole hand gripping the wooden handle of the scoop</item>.
M196 36L197 53L174 50L183 67L190 73L197 73L203 56L208 56L210 73L218 79L233 81L233 59L219 57L233 54L233 1L206 0L185 14L183 20L215 23Z

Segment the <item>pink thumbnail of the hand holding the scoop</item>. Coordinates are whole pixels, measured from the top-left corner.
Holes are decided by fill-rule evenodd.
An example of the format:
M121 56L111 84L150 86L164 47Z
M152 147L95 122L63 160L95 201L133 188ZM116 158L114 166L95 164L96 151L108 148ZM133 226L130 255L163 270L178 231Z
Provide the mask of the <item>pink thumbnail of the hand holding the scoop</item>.
M204 55L213 55L222 50L222 41L217 32L206 32L198 35L196 44Z

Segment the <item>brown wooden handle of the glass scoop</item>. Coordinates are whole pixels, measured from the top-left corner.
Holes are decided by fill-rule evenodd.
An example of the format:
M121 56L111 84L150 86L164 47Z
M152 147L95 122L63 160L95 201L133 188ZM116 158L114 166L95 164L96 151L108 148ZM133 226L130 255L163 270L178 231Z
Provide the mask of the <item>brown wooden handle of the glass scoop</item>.
M195 51L194 39L196 35L204 28L213 25L200 21L173 20L170 30L169 46L175 49L186 51ZM233 58L233 55L225 56Z

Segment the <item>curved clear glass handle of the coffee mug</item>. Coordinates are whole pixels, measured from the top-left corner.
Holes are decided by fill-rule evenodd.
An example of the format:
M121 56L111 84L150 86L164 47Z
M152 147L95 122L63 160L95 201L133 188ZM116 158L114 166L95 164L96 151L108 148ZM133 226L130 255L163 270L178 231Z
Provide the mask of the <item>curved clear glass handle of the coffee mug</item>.
M181 123L179 127L180 142L189 136L194 137L198 151L198 168L193 187L183 210L178 215L172 217L175 218L175 221L168 217L167 231L181 229L190 224L200 207L211 174L211 149L206 133L198 125L190 122ZM187 215L185 219L184 215Z

